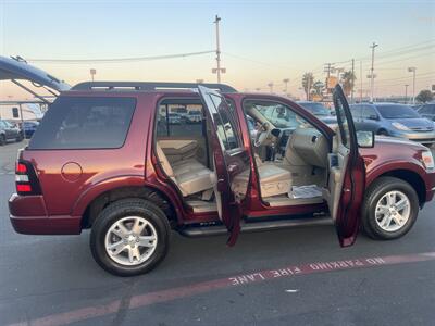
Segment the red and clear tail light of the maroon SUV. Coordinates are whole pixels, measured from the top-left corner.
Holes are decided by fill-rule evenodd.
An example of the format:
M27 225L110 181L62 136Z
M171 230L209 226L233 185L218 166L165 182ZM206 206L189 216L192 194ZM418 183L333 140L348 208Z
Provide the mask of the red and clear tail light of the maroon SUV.
M15 165L15 185L18 195L41 195L38 177L32 163L20 160Z

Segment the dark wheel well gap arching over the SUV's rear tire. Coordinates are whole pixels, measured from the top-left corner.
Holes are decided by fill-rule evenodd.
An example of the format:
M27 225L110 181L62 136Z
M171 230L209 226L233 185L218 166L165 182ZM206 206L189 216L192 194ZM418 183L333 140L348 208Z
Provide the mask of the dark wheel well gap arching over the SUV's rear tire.
M122 187L101 193L88 204L82 217L82 228L90 228L104 208L125 198L141 198L151 201L163 211L171 226L176 224L175 210L161 191L148 187Z

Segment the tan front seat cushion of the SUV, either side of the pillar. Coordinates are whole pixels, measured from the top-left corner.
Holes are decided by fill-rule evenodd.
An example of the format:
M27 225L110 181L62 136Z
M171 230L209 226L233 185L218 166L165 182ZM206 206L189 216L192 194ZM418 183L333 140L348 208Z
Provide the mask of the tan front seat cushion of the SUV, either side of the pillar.
M257 166L260 177L261 197L271 197L283 193L288 193L291 188L291 174L289 171L276 166L273 163L262 163ZM250 170L236 175L233 180L233 191L245 196Z

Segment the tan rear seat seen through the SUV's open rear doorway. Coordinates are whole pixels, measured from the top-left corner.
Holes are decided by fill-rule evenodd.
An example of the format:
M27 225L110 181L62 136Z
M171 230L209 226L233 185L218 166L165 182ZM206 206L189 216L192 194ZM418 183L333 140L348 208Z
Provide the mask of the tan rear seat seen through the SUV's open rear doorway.
M156 152L164 173L177 185L184 197L213 188L214 173L201 163L195 162L195 170L187 167L183 170L179 166L172 168L158 142L156 143ZM190 164L192 165L194 162L190 162Z

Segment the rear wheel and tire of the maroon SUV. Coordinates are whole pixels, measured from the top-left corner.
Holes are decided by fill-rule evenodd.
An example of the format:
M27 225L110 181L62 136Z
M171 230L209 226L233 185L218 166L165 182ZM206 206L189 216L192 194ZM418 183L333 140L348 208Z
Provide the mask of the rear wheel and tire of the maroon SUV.
M144 199L111 203L97 217L90 233L96 262L117 276L150 272L166 255L171 227L163 211Z

